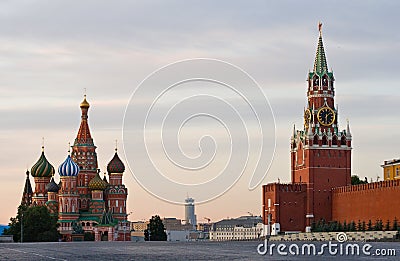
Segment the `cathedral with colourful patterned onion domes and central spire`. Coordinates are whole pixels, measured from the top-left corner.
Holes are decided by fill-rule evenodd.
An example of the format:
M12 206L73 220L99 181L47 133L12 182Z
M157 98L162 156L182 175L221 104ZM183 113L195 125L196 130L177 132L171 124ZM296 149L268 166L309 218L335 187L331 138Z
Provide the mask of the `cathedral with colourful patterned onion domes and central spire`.
M65 161L58 167L60 182L54 181L55 170L46 159L44 146L39 160L31 168L35 189L26 172L22 204L47 206L52 215L58 215L59 232L63 240L89 232L96 241L128 241L129 226L126 214L128 190L122 183L125 166L115 149L107 165L109 180L102 179L97 164L96 146L88 124L89 103L86 95L78 135ZM81 227L81 228L80 228Z

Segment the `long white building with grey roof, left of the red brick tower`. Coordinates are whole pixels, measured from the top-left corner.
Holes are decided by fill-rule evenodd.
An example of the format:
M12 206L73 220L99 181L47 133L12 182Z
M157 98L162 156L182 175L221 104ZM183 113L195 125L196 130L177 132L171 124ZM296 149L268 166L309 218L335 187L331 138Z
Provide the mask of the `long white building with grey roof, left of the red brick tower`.
M213 224L210 230L210 241L258 239L263 235L263 227L260 216L223 219Z

